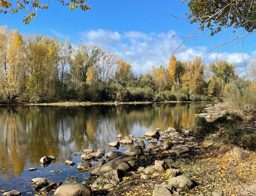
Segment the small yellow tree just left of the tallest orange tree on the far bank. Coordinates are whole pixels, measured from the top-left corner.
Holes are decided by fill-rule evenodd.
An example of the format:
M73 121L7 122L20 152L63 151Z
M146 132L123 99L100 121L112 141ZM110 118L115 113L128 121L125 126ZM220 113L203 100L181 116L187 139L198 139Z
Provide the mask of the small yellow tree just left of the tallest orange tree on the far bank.
M160 65L158 67L153 66L151 73L152 73L153 79L156 82L158 92L163 91L167 86L165 68L163 67L163 65Z

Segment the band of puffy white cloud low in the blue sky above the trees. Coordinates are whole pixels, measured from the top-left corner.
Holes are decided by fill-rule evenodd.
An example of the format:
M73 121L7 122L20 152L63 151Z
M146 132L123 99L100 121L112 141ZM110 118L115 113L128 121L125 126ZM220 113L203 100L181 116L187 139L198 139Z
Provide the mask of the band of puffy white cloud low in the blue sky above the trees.
M166 33L143 33L139 31L127 31L119 33L103 29L84 31L81 40L86 44L96 44L105 50L111 50L124 60L131 62L133 70L137 74L151 70L152 65L167 66L171 54L180 45L182 40L176 32L170 30ZM204 45L187 47L182 45L175 53L180 61L195 59L207 52ZM256 54L256 51L253 52ZM244 53L245 60L250 60L250 55ZM202 56L205 64L216 61L217 53L209 53ZM244 62L241 53L218 53L218 60L226 60L238 67L240 74L244 72Z

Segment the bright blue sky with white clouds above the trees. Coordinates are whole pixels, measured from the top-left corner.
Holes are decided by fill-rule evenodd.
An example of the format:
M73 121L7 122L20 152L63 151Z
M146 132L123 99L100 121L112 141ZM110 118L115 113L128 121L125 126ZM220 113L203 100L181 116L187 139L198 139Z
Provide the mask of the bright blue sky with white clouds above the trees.
M42 0L43 1L43 0ZM15 1L14 1L15 2ZM43 34L69 39L74 45L96 44L111 50L131 62L136 73L145 73L152 65L168 65L169 57L181 43L176 34L186 36L198 25L191 25L164 13L185 17L188 8L181 0L88 0L89 11L70 11L55 1L50 1L48 11L39 10L37 17L29 25L23 23L24 12L0 14L0 26L17 28L22 34ZM199 32L201 34L202 32ZM174 38L172 38L174 35ZM186 41L175 53L177 60L193 60L202 56L221 41L235 38L232 31L226 30L199 40ZM256 34L244 39L243 54L247 62L256 56ZM217 50L204 55L205 64L216 61ZM227 60L244 74L244 65L237 42L220 48L218 60Z

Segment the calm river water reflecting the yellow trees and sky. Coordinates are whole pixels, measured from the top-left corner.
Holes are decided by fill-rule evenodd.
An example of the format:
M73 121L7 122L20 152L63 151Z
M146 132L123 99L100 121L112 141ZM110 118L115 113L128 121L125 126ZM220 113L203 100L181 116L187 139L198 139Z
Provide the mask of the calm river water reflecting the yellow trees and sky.
M57 182L77 176L83 181L89 174L76 170L76 165L64 165L65 160L81 162L79 153L87 148L105 148L107 153L113 150L108 143L119 133L137 137L154 128L191 128L194 114L206 104L0 107L0 190L18 189L29 195L33 193L30 180L35 177ZM40 158L49 155L58 159L41 167ZM27 171L31 167L38 170Z

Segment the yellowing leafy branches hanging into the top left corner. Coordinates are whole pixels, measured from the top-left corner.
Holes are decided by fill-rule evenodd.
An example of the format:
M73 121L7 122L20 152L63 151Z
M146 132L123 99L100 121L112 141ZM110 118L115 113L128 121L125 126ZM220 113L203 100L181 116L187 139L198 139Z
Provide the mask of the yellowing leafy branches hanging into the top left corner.
M79 8L83 11L90 9L90 7L86 4L87 0L56 0L63 6L67 6L70 10L74 10ZM17 14L22 10L26 10L25 17L23 22L25 24L29 24L29 22L37 15L36 11L38 9L48 10L49 9L49 1L41 2L39 0L17 0L16 3L10 0L1 0L0 1L0 13L7 14L8 12L11 14Z

